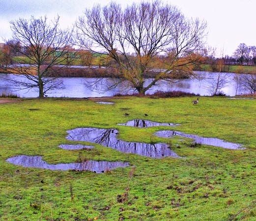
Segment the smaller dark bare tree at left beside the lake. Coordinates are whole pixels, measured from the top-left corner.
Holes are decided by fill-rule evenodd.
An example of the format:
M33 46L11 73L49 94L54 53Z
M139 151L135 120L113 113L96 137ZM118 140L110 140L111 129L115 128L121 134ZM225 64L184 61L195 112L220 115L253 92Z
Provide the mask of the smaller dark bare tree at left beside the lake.
M10 28L12 39L5 43L20 56L16 64L8 66L16 76L9 81L21 88L38 88L40 98L49 90L62 88L61 81L47 76L74 56L70 47L73 29L60 29L59 16L49 23L46 16L20 18L11 21Z

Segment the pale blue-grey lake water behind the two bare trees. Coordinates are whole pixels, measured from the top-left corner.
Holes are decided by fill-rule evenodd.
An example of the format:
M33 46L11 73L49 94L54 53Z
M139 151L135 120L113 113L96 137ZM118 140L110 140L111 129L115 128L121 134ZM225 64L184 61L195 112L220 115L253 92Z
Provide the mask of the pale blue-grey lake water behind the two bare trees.
M177 81L176 83L164 83L159 82L157 85L153 86L150 90L148 90L147 94L153 94L157 90L162 91L171 91L171 90L181 90L184 92L190 92L199 94L200 96L208 96L211 95L209 87L211 87L211 83L214 81L214 78L218 76L219 73L215 72L195 72L198 75L198 79L184 79L181 81ZM222 91L228 96L235 96L236 94L245 93L242 88L236 86L235 81L233 80L236 74L233 73L221 73L221 76L225 77L225 86L222 88ZM4 78L13 78L12 74L0 74L0 77ZM104 92L106 88L102 85L110 85L116 81L117 79L103 79L103 82L98 85L93 85L93 82L96 78L86 78L87 85L85 85L85 78L60 78L63 81L65 89L62 90L53 90L47 95L49 97L106 97L113 96L117 93L121 94L132 94L135 90L127 85L127 83L123 82L119 84L117 87ZM151 79L148 79L145 84L149 83ZM90 84L91 83L91 84ZM90 86L89 86L90 85ZM12 85L7 85L3 80L0 79L0 94L2 93L13 93L17 94L20 97L38 97L38 90L36 88L33 89L22 89L17 90L13 88Z

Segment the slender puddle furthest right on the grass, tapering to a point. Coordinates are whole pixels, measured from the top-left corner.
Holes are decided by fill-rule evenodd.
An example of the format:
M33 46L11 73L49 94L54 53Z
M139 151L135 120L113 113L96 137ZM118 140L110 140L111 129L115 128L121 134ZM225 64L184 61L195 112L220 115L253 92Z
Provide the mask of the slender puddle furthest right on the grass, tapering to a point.
M227 148L227 149L240 149L240 150L245 149L245 148L243 148L242 145L240 145L238 143L231 143L231 142L227 142L225 140L218 139L218 138L203 138L203 137L199 137L197 135L185 134L180 131L168 131L168 130L167 131L158 131L154 135L157 137L160 137L160 138L172 138L174 136L179 136L179 137L194 139L196 143L200 143L200 144L218 146L218 147L223 147L223 148Z

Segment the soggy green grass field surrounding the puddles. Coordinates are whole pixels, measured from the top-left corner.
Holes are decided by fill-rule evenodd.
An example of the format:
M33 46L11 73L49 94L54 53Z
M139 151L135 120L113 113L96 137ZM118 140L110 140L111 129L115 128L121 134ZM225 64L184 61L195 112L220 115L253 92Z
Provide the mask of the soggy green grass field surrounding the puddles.
M227 221L240 211L234 220L255 220L256 100L201 97L193 106L194 99L129 97L103 105L47 98L0 104L0 220ZM247 149L191 147L187 139L153 136L168 127L116 125L144 119L144 113L148 120L180 123L175 130L241 143ZM58 148L64 143L88 144L66 140L66 131L77 127L117 128L119 138L127 141L166 141L184 158L152 159L100 145L91 150ZM21 154L43 156L49 164L71 163L82 154L90 160L128 161L131 166L96 174L6 162ZM133 166L128 200L117 202Z

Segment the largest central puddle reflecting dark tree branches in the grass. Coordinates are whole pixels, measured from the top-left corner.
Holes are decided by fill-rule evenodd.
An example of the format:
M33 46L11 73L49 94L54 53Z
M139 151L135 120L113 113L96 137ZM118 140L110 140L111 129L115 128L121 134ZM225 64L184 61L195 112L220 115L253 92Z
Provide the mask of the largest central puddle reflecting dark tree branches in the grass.
M152 158L179 158L175 152L171 151L167 143L150 144L117 139L118 131L116 129L76 128L67 132L69 133L66 137L68 140L97 143L123 153L133 153Z

